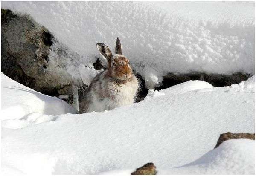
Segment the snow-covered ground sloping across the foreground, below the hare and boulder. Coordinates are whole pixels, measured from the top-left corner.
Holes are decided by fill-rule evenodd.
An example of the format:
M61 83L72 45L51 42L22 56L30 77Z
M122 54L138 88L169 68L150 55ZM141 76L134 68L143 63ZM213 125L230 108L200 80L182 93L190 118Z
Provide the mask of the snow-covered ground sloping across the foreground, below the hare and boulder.
M213 150L221 133L254 133L254 76L218 88L187 81L130 106L70 114L64 101L2 74L2 111L5 175L131 173L147 162L159 174L254 174L254 141ZM30 123L32 112L41 123Z

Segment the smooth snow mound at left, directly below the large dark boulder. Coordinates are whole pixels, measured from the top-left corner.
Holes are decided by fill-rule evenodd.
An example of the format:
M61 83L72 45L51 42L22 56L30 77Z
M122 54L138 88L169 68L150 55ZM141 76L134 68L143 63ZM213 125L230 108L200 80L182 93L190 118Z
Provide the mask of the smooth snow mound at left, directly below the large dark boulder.
M65 101L36 92L13 81L3 73L1 80L1 120L6 127L12 125L14 128L23 127L32 121L35 124L49 121L54 115L76 113L76 110Z

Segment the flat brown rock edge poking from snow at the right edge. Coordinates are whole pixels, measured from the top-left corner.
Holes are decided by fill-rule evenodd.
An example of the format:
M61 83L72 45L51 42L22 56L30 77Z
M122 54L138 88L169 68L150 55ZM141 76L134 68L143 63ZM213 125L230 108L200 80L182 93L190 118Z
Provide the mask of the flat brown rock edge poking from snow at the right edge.
M222 142L227 141L229 139L252 139L254 140L255 134L251 133L223 133L218 138L217 144L214 148L217 148Z

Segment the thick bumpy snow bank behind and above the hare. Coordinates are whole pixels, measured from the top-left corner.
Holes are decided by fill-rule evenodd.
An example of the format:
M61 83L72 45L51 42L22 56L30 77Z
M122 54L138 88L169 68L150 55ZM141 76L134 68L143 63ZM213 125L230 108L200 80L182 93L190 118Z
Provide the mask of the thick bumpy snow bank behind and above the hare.
M143 78L157 72L150 89L168 72L254 74L254 2L2 2L2 8L30 14L49 29L60 41L49 59L55 64L55 47L65 46L70 52L58 62L73 78L81 78L80 65L104 62L96 43L113 51L117 36Z

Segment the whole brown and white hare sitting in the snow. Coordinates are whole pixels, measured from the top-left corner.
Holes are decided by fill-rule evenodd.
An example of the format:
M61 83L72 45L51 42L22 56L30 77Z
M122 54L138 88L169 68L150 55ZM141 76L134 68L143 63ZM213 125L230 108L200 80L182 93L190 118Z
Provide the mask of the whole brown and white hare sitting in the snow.
M80 113L101 112L132 104L137 96L139 82L132 73L129 59L122 55L119 38L116 39L115 55L104 43L96 46L107 59L108 69L93 78L80 101Z

